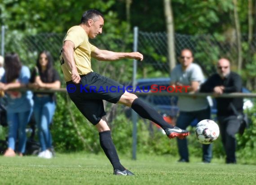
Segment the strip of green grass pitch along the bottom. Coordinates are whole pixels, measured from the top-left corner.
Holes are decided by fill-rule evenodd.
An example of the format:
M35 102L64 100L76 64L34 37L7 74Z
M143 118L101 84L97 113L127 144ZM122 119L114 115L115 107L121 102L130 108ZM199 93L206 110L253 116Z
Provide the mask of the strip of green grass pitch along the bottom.
M220 159L203 164L192 158L139 155L122 163L137 176L114 176L103 154L57 154L54 159L0 156L0 185L254 185L255 165L227 165Z

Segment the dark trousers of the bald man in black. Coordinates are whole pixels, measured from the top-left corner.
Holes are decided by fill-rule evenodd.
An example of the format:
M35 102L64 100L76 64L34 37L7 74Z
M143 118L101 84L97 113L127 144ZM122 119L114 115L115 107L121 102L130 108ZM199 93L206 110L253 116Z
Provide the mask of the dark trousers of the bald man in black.
M236 115L218 116L221 141L226 153L226 163L236 163L236 138L235 134L240 127L240 121Z

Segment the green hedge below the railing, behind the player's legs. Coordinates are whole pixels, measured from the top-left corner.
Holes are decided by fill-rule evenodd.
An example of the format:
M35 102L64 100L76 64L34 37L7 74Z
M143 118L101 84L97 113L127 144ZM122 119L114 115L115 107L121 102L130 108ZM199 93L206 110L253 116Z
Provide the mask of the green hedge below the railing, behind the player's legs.
M87 151L102 152L96 128L80 114L66 94L57 94L57 111L52 127L55 150L59 152ZM106 110L111 111L110 107ZM256 157L256 119L255 108L248 114L252 119L250 128L243 136L237 135L238 160ZM122 154L132 154L132 121L124 114L124 106L118 105L116 117L110 122L112 138L116 149ZM202 157L201 144L196 140L194 128L189 127L191 135L187 137L190 155ZM145 154L171 154L177 156L176 139L169 140L150 121L139 119L137 123L137 152ZM213 143L213 156L225 158L221 136Z

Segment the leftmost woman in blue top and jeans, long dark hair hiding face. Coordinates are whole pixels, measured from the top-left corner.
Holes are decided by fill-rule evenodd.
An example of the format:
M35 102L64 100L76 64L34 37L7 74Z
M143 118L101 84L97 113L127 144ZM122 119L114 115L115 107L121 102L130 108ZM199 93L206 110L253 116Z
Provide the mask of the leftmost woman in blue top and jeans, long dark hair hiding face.
M17 53L6 54L4 58L5 73L0 82L0 90L7 97L7 121L9 126L8 149L4 156L15 156L15 142L18 134L19 156L23 156L26 148L26 125L32 113L33 99L31 91L15 91L29 83L30 71L22 66ZM13 89L13 90L12 90Z

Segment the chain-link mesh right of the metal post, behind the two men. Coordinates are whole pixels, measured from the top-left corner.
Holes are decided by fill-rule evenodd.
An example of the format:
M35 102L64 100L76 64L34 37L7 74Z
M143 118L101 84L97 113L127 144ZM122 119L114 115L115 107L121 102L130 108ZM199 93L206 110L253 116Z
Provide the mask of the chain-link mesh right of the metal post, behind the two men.
M242 56L243 69L242 74L248 74L246 70L251 69L256 62L256 35L252 36L252 40L248 40L247 35L242 35ZM145 54L145 62L141 64L143 72L142 77L150 76L150 69L145 66L152 67L152 70L159 76L169 76L168 63L168 47L167 34L139 32L139 51ZM183 48L190 48L194 53L194 62L198 63L206 76L215 72L216 62L220 57L230 59L233 70L237 70L238 66L238 45L234 35L215 36L215 35L181 35L175 34L175 56L179 56ZM177 59L178 63L178 59ZM150 65L150 66L149 66ZM140 71L141 72L141 71ZM250 74L252 80L251 86L255 86L255 74Z

